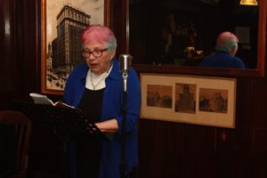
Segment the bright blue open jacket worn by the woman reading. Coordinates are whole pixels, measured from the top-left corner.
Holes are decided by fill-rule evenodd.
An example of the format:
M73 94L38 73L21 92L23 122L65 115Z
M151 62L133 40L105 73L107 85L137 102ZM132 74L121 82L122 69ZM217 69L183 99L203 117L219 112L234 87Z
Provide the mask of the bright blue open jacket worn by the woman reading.
M85 80L88 72L87 65L79 64L71 72L64 89L64 101L77 107L85 91ZM112 140L101 140L101 164L99 178L119 178L121 161L121 124L123 104L123 78L119 70L117 59L113 59L113 67L109 77L105 80L106 88L103 94L101 121L116 118L119 132L114 134ZM125 121L125 174L138 165L137 121L141 107L141 89L138 76L133 68L128 72L127 101ZM76 163L75 157L72 157ZM77 167L71 164L72 177L77 177Z

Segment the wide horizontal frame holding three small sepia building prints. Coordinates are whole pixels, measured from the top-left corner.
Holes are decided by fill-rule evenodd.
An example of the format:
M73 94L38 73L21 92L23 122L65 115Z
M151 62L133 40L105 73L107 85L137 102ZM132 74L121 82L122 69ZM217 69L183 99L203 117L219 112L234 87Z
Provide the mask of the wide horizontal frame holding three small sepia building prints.
M236 79L141 73L141 117L235 127Z

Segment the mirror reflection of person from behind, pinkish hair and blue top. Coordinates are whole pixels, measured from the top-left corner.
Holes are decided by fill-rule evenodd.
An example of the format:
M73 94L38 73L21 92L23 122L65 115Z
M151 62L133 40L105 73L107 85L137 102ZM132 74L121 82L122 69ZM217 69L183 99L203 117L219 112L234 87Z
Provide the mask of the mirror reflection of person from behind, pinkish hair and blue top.
M206 56L199 65L213 68L245 69L245 64L238 57L239 38L231 32L221 33L216 40L215 52Z

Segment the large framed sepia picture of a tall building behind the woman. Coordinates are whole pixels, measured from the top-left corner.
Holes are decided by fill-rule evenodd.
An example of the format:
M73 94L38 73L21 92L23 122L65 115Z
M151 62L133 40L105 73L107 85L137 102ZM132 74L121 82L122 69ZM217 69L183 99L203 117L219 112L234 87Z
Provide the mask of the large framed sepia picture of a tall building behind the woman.
M41 0L41 92L62 94L84 61L80 36L89 24L110 26L110 0Z

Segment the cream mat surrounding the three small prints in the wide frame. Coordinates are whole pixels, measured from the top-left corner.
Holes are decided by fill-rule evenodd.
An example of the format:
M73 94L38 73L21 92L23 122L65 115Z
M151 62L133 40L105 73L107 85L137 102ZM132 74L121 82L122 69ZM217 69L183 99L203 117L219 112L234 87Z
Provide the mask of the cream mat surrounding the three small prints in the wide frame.
M180 113L174 111L175 84L197 85L196 88L196 112ZM171 85L172 109L147 106L147 85ZM142 108L141 117L165 121L174 121L198 125L214 125L221 127L235 126L235 104L236 104L236 79L223 77L199 77L199 76L177 76L141 74L142 86ZM199 111L199 88L228 90L227 113Z

